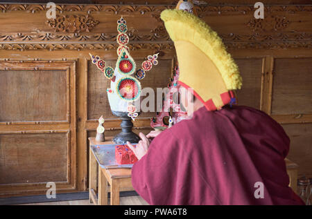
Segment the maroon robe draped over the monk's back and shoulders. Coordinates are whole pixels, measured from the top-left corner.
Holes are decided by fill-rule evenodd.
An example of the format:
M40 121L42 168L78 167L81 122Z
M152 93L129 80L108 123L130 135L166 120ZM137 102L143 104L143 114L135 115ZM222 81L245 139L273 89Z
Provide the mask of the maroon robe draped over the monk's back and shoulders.
M132 167L132 185L149 204L304 204L288 187L289 142L266 113L204 106L155 137Z

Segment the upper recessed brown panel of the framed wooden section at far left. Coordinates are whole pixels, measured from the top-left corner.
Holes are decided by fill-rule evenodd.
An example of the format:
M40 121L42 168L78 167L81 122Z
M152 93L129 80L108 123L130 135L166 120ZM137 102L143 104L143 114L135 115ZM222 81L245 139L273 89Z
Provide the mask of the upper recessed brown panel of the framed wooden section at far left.
M0 122L67 120L66 70L0 70Z

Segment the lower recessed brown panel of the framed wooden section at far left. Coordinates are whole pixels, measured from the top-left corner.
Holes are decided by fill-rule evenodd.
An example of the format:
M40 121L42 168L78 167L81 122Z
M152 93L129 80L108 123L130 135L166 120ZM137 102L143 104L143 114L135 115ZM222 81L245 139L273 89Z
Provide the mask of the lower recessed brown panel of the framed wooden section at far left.
M0 184L67 182L67 135L0 134Z

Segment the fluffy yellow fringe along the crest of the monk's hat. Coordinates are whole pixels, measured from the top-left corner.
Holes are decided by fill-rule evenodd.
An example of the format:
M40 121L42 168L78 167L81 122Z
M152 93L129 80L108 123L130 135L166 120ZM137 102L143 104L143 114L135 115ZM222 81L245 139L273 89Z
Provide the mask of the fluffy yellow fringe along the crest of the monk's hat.
M184 30L177 30L174 25L166 26L171 39L173 41L189 41L200 48L214 62L228 90L241 88L242 78L239 74L239 67L227 53L222 39L214 30L211 30L207 23L183 10L167 9L160 16L166 22L182 22Z

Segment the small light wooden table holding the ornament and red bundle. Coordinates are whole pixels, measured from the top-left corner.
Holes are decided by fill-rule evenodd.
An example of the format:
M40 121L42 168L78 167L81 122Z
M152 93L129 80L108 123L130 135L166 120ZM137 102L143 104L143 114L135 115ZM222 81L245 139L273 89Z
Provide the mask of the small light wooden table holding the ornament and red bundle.
M120 191L134 190L131 182L131 169L103 169L98 165L91 145L113 144L112 137L105 137L105 140L107 141L97 142L95 137L89 137L89 201L98 205L107 204L107 192L110 189L110 204L118 205ZM98 189L96 189L97 184ZM98 198L96 198L96 191Z

